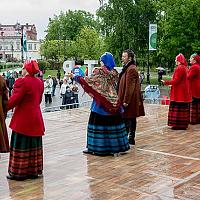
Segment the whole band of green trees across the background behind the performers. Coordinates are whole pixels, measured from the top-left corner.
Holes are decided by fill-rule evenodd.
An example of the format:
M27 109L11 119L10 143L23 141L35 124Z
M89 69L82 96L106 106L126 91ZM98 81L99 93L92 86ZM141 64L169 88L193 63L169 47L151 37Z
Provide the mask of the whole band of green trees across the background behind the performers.
M158 24L157 50L151 64L174 65L183 53L200 52L199 0L101 0L97 18L86 11L66 11L49 20L41 47L49 59L98 59L104 51L118 64L124 49L132 49L139 63L148 58L149 23Z

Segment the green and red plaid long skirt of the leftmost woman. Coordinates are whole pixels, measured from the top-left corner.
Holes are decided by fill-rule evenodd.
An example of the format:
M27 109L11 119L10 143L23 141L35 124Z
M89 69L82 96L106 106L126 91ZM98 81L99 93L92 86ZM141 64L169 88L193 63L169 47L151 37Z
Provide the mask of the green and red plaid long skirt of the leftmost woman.
M12 132L8 173L15 177L40 175L43 170L42 136Z

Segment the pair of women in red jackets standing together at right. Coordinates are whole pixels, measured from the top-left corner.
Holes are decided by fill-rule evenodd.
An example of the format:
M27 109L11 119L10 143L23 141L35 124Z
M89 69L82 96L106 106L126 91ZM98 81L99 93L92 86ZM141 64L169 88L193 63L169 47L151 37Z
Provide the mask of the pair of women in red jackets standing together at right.
M200 123L200 56L190 56L190 67L183 54L175 59L176 68L171 80L162 80L171 86L168 125L185 130L189 124Z

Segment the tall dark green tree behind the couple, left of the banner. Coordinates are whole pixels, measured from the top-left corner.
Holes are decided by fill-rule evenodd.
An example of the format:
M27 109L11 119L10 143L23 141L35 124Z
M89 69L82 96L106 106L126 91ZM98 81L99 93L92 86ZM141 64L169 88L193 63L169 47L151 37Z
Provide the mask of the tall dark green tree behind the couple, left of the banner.
M148 49L149 22L156 19L153 0L108 0L97 11L107 49L120 61L124 49L144 57Z

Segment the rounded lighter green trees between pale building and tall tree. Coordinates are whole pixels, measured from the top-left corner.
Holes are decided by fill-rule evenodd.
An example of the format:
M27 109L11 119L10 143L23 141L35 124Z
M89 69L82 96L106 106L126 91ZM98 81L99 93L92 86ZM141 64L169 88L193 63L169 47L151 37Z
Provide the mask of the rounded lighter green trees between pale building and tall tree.
M61 12L49 20L47 35L41 45L46 59L63 62L66 59L96 59L103 39L98 33L98 22L86 11Z

